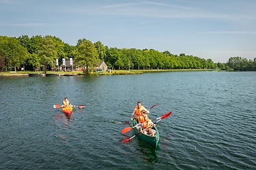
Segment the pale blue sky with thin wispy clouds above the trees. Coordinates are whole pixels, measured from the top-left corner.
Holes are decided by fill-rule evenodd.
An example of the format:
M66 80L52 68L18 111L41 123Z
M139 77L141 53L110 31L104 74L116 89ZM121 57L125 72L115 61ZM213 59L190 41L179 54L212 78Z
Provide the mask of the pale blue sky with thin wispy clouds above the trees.
M256 57L255 0L0 0L0 35L53 35L226 63Z

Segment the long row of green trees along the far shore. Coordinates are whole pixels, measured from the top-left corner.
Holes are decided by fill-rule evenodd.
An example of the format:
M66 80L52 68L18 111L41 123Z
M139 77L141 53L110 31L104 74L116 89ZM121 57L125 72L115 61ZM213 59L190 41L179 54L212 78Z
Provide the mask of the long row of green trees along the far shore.
M92 43L79 39L76 46L64 43L58 37L36 35L29 37L0 36L0 71L16 71L25 68L47 71L57 69L56 59L72 58L74 67L85 71L104 61L110 69L222 69L234 71L256 71L256 58L248 60L240 56L231 57L227 63L214 63L212 59L186 54L158 52L154 49L109 48L100 41Z

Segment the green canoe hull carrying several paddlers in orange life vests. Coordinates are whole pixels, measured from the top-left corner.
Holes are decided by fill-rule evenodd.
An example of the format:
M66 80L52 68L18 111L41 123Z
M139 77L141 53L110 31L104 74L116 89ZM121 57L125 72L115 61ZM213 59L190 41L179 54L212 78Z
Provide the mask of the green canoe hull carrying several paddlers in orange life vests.
M135 126L136 124L137 124L137 121L134 119L133 126ZM134 135L136 135L140 141L143 141L144 143L146 143L149 146L152 146L153 148L157 148L159 143L159 131L156 126L154 126L153 129L156 130L155 136L145 135L144 133L140 132L139 128L134 128L133 132L134 132Z

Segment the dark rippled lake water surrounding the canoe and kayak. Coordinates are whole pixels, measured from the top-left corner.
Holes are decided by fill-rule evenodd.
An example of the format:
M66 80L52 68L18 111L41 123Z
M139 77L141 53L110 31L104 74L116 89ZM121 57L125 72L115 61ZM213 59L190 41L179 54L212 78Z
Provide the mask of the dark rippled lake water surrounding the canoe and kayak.
M0 78L0 169L256 169L256 73ZM64 97L74 109L68 121ZM137 101L156 150L122 134Z

